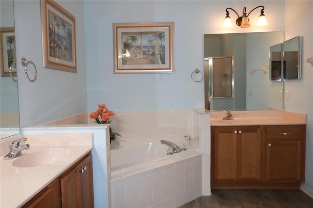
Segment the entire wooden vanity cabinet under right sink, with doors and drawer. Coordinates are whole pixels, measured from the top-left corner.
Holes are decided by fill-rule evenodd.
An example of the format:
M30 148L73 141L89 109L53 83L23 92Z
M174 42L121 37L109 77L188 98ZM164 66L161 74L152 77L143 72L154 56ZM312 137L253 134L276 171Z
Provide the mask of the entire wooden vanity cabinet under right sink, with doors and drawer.
M211 126L211 188L299 188L305 128Z

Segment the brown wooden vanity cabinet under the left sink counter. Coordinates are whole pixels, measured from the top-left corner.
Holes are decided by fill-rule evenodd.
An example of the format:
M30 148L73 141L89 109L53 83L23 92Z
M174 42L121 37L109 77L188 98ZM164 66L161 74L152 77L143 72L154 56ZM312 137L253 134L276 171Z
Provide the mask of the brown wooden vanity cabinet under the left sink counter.
M72 207L94 207L91 152L22 206L22 208Z

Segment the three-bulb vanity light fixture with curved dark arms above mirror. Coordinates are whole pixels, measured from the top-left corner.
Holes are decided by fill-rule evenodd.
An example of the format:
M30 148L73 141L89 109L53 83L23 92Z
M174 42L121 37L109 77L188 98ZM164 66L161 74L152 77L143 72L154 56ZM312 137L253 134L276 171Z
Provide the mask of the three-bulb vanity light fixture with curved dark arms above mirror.
M246 7L244 7L244 10L243 10L243 16L240 17L239 14L232 8L228 7L226 9L226 17L225 17L225 20L224 20L224 27L231 27L232 26L232 23L231 23L231 19L229 17L229 12L228 12L228 9L234 11L236 13L236 15L238 16L238 18L236 19L236 24L238 26L240 26L241 28L245 28L245 27L250 27L250 24L249 24L249 15L252 11L254 11L255 9L259 8L259 7L262 7L261 9L261 15L259 16L259 22L258 22L258 25L259 26L264 26L264 25L267 25L268 22L266 21L266 18L265 18L265 15L264 15L264 6L257 6L255 7L254 9L252 9L248 15L246 15Z

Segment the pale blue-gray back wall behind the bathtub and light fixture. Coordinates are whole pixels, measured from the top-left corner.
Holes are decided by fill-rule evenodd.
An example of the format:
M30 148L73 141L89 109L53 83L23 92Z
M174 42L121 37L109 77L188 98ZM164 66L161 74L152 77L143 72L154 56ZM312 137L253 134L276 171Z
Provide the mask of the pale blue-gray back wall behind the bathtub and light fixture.
M268 26L222 27L225 9L265 6ZM204 82L190 75L203 70L203 34L284 30L283 1L84 1L88 110L106 103L112 110L190 109L204 106ZM235 21L235 13L230 16ZM273 21L274 20L274 21ZM175 22L174 74L113 74L112 23ZM88 31L88 32L87 32Z

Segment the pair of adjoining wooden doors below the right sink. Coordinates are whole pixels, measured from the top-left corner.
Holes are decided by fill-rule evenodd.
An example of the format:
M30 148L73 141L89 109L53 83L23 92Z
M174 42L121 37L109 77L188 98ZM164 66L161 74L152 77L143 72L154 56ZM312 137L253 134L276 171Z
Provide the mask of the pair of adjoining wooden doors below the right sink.
M212 183L260 180L261 135L260 126L212 126Z

